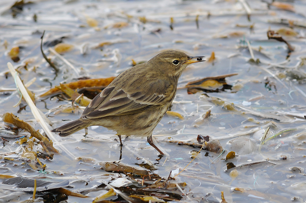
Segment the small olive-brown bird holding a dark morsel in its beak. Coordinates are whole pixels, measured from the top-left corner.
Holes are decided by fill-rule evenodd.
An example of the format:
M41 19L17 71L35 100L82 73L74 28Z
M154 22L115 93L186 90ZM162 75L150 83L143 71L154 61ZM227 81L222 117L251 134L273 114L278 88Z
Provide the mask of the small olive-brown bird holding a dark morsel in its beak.
M203 58L175 50L161 52L120 73L92 99L79 119L52 132L68 136L99 125L116 131L120 146L121 135L147 137L147 142L163 155L153 143L152 132L169 109L184 69L189 64L205 61Z

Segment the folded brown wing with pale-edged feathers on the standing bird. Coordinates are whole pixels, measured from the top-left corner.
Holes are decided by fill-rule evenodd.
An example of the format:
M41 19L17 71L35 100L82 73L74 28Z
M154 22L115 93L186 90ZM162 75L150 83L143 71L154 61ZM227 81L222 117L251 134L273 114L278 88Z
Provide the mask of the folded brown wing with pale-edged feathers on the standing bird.
M136 92L132 92L135 88L106 87L90 102L81 117L96 119L143 112L172 99L176 89L165 80L148 82L145 87L145 90L140 90L141 87Z

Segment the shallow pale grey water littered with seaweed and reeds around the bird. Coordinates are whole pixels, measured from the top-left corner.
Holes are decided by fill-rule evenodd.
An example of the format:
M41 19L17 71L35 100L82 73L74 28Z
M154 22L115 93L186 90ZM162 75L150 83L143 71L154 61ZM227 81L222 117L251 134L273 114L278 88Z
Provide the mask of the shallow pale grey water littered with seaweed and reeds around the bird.
M171 110L183 115L184 120L165 115L155 128L154 142L167 154L155 164L154 173L167 178L170 171L177 168L181 171L192 160L189 152L199 150L169 143L169 139L197 142L197 135L208 135L210 139L218 139L225 152L221 155L209 152L209 156L204 156L207 151L201 151L185 171L176 176L177 182L187 184L180 201L219 202L221 191L224 191L227 202L289 202L293 198L297 202L306 200L306 136L300 134L305 133L306 122L306 25L293 26L297 36L282 36L294 47L288 59L287 45L267 38L269 29L277 31L288 28L286 24L272 23L271 20L287 19L292 20L293 24L303 24L305 2L285 2L294 8L294 11L288 11L273 5L268 9L267 3L262 1L249 1L250 21L241 3L244 1L33 2L25 5L16 17L12 17L9 9L11 1L0 2L0 89L16 87L12 76L6 74L7 62L11 62L14 68L28 63L27 69L20 69L20 76L24 83L36 77L29 89L36 95L37 108L54 122L50 129L80 116L78 113L54 114L55 108L70 105L69 101L59 101L56 97L44 100L38 98L39 94L59 83L84 76L117 76L132 67L132 59L136 62L147 61L164 50L174 49L191 56L206 56L207 60L211 52L215 52L216 59L213 62L190 65L181 76L179 87L208 76L238 73L227 77L226 82L240 88L206 93L207 96L202 91L187 94L186 88L178 89ZM33 20L34 14L37 22ZM197 15L199 28L196 27ZM90 27L86 22L88 17L95 19L98 26ZM145 17L147 22L141 22L139 17ZM174 19L173 30L170 29L171 17ZM123 27L114 28L118 22L124 22ZM251 25L253 29L249 28ZM62 38L63 42L74 46L73 50L62 56L72 63L76 72L50 54L47 45L44 45L44 52L56 63L60 72L55 73L50 68L40 52L43 30L46 31L44 42ZM39 34L35 34L37 31ZM259 64L249 62L251 54L247 41ZM94 48L101 42L121 43ZM7 48L4 46L6 43ZM14 46L20 47L18 62L13 62L8 56ZM35 130L41 129L28 106L19 113L19 108L13 107L19 96L12 93L1 91L0 115L13 113L29 122ZM217 105L213 98L224 101L234 109L229 110L224 103ZM21 105L26 103L23 101ZM201 120L208 110L211 110L211 116ZM261 145L261 137L268 126L270 130L267 138L275 137ZM2 120L0 127L5 127ZM278 132L288 129L290 131L278 135ZM44 172L33 170L24 164L24 159L18 157L22 154L22 147L16 142L18 139L3 137L7 141L0 141L1 174L43 177L44 180L54 182L69 180L73 186L70 190L75 192L100 185L103 183L101 180L110 182L112 178L125 177L122 173L105 172L97 165L101 161L118 161L120 147L115 133L104 127L90 127L88 131L87 137L99 139L99 142L81 141L84 138L82 130L65 138L56 135L58 142L54 142L54 146L57 149L65 146L73 156L87 157L93 161L73 159L62 151L54 154L52 160L41 160L47 166ZM0 136L5 135L0 133ZM29 136L29 133L20 131L19 135ZM235 138L244 138L245 142ZM233 143L243 145L235 147ZM37 145L35 150L42 151L40 148ZM225 161L230 151L235 151L236 157ZM6 159L11 152L15 152L10 155L13 160ZM157 163L157 155L158 152L147 144L146 139L131 136L125 139L121 163ZM228 162L239 167L226 170ZM238 176L232 179L230 171L233 170L237 170ZM14 202L32 197L31 193L25 192L15 197L12 192L16 189L12 188L14 186L1 187L0 197L12 194L11 198L6 198ZM243 188L244 192L233 191L233 188ZM100 194L101 190L90 191L85 194L89 196L86 199L69 196L66 201L89 202Z

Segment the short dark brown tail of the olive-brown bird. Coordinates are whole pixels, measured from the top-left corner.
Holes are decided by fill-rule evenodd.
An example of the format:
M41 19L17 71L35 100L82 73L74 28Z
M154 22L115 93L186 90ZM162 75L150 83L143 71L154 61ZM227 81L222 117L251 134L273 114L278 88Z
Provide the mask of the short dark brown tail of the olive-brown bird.
M59 136L65 137L88 126L90 126L90 124L84 123L82 120L78 119L61 127L55 128L51 132L59 132Z

